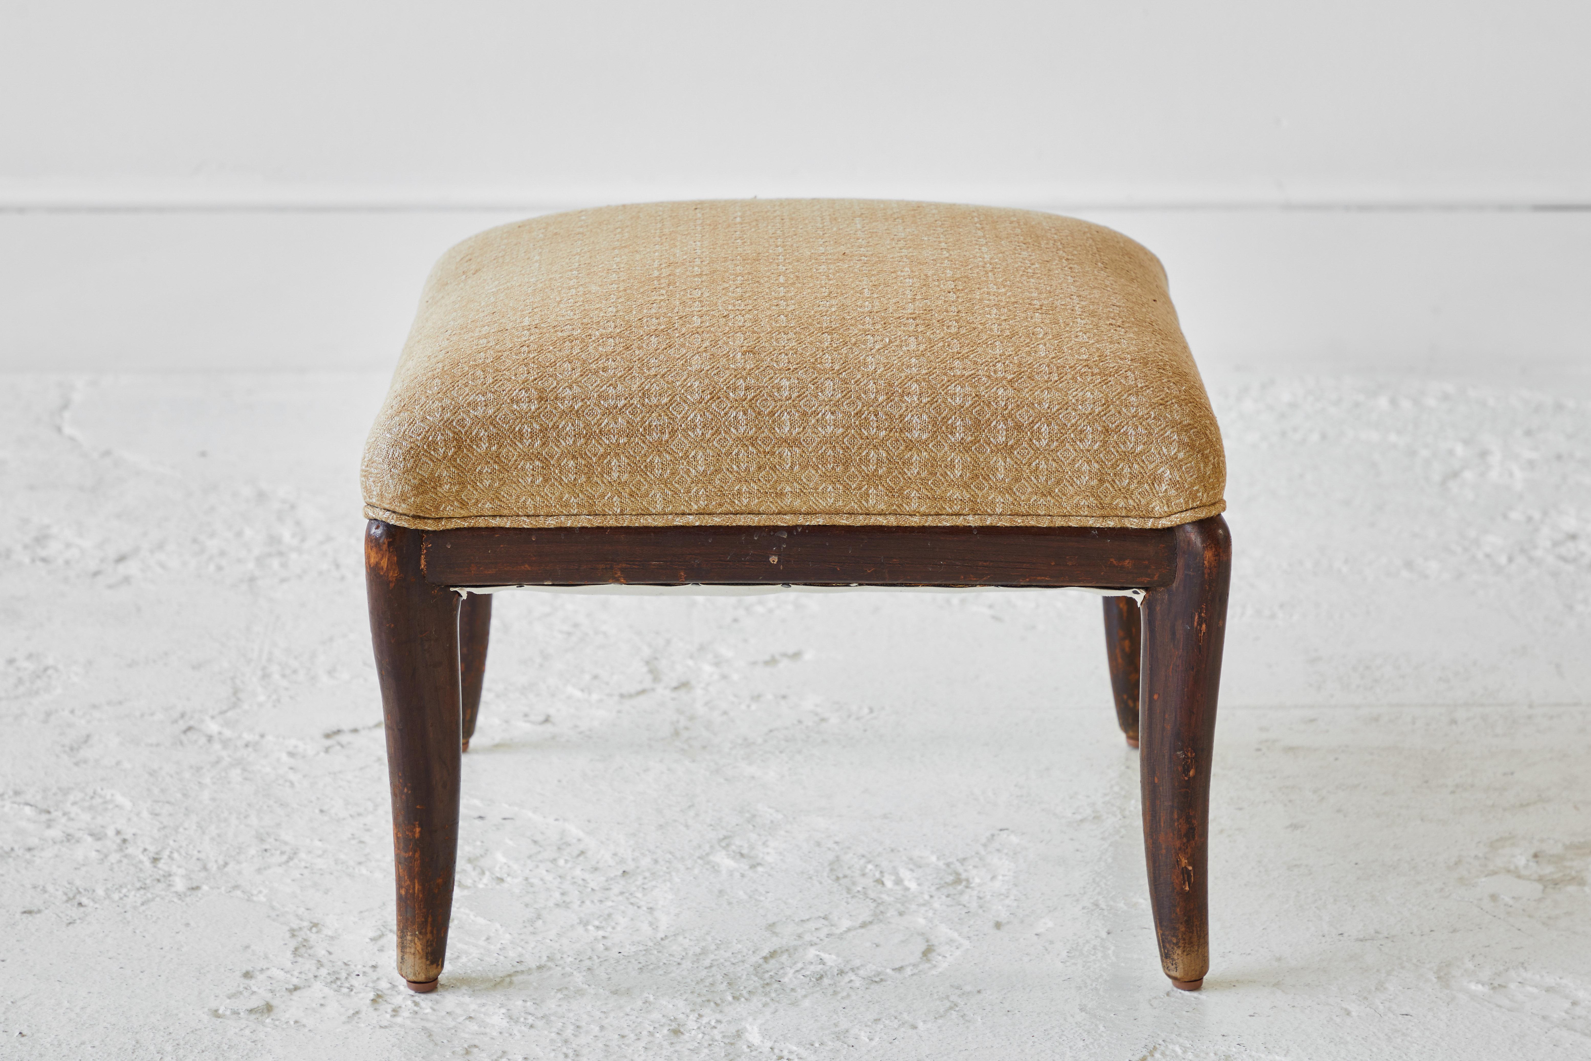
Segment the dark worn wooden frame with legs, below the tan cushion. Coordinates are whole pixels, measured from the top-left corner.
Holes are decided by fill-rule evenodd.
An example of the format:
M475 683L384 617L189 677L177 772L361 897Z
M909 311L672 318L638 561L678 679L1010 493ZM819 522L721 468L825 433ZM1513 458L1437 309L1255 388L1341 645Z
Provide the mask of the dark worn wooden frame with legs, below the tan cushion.
M1168 530L1079 527L582 527L364 536L387 717L398 864L398 970L436 988L469 748L492 624L471 585L1023 585L1141 589L1104 598L1117 721L1141 748L1144 851L1160 962L1209 969L1206 848L1231 538L1216 515Z

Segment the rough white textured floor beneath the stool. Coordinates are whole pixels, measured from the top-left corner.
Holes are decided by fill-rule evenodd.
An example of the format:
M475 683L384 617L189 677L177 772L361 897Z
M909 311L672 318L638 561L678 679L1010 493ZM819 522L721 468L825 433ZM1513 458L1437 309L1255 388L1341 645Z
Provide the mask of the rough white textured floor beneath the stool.
M0 385L0 1056L1591 1056L1591 402L1212 380L1206 989L1079 593L504 595L393 972L383 380Z

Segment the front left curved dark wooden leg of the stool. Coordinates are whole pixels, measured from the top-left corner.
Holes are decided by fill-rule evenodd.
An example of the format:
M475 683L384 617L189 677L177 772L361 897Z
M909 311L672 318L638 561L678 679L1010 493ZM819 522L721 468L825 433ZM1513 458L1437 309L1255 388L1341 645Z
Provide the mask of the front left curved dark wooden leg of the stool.
M434 991L458 854L458 595L425 581L420 531L375 520L364 533L364 584L387 717L398 972L415 991Z

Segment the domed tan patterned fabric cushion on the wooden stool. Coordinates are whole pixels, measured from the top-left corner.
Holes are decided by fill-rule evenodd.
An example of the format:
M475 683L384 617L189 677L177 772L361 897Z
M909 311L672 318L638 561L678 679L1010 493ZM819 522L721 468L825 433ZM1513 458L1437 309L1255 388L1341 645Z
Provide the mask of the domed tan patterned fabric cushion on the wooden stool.
M364 450L418 528L1171 527L1225 507L1160 262L1028 210L670 202L450 250Z

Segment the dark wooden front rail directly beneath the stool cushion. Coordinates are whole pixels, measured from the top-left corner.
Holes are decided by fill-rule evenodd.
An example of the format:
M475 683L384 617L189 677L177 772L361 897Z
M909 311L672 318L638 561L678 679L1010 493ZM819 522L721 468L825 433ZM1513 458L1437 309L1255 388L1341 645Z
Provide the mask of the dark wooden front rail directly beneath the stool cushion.
M1168 585L1169 530L1114 527L468 527L425 534L444 585Z

